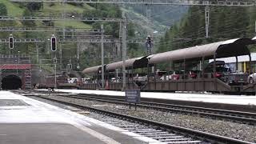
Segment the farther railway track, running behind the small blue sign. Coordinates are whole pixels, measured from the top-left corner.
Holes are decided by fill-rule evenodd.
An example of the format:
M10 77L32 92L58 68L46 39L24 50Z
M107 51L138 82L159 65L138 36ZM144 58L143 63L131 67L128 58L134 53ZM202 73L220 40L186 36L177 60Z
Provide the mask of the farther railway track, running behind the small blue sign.
M88 95L88 94L78 94L78 95L68 95L62 97L69 98L79 98L79 99L87 99L94 100L98 102L111 102L122 105L129 105L127 102L124 102L124 98L107 98L107 96L98 96L98 95ZM137 106L141 106L149 109L157 109L163 111L172 111L178 113L186 113L186 114L197 114L202 117L207 118L220 118L220 119L228 119L234 122L242 122L250 125L256 124L256 114L242 111L234 111L234 110L220 110L220 109L212 109L212 108L204 108L204 107L196 107L196 106L182 106L182 105L174 105L174 104L166 104L166 103L157 103L157 102L141 102L137 104Z

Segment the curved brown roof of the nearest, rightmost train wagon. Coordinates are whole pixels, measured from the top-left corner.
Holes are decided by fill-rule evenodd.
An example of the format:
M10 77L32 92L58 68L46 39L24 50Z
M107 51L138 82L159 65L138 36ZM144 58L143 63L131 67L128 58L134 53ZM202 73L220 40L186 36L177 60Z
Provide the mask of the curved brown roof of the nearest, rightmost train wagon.
M150 64L169 61L197 60L201 58L210 59L226 58L250 54L248 45L256 43L251 38L236 38L222 42L214 42L202 46L193 46L180 50L172 50L164 53L154 54L149 58Z

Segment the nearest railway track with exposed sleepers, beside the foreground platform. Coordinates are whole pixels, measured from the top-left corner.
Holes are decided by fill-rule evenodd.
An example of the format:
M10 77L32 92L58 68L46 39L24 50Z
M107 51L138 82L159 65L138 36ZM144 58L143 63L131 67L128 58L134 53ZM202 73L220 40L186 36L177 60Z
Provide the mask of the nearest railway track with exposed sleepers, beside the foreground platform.
M27 95L28 96L28 95ZM122 129L129 130L136 134L154 138L163 143L250 143L237 140L234 138L226 138L216 134L209 134L198 130L191 130L181 126L169 125L162 122L155 122L145 118L137 118L125 114L118 114L106 110L83 106L74 102L65 102L56 98L47 98L45 96L32 95L43 98L52 102L62 103L67 106L74 106L81 110L89 110L94 113L103 114L109 118L102 118L103 122L110 123ZM114 119L113 119L114 118Z

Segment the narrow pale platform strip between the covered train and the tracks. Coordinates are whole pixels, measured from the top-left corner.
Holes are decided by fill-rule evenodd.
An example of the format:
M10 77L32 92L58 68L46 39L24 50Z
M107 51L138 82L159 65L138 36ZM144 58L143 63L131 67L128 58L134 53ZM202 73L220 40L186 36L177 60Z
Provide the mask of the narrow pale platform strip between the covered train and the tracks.
M99 94L125 96L125 92L114 90L64 90L55 91L69 92L75 94ZM141 98L158 98L191 102L211 102L231 105L249 105L256 106L256 96L246 95L224 95L224 94L193 94L193 93L159 93L159 92L141 92Z

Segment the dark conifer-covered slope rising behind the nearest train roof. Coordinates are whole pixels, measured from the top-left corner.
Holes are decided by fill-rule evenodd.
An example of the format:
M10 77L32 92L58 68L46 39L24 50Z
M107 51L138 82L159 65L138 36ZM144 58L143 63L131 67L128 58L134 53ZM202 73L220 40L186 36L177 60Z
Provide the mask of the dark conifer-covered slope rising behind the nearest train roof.
M204 6L191 6L180 22L158 43L158 52L224 41L233 38L254 38L256 8L210 7L209 38L206 38ZM256 51L256 47L251 47ZM162 65L162 70L165 66Z

